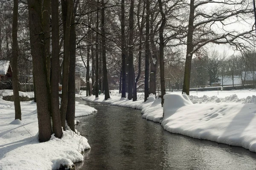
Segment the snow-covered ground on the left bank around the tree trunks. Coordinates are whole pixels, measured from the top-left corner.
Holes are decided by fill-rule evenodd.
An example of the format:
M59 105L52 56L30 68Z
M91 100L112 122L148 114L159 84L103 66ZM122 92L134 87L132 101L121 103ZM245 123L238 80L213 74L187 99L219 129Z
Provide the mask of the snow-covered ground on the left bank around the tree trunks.
M10 93L0 91L4 95ZM21 94L32 96L32 93ZM52 135L49 141L39 143L36 103L28 101L20 105L22 121L14 120L13 102L0 98L0 170L58 169L61 164L71 167L73 162L84 160L81 152L90 149L86 138L66 130L61 139ZM96 111L76 102L76 117Z

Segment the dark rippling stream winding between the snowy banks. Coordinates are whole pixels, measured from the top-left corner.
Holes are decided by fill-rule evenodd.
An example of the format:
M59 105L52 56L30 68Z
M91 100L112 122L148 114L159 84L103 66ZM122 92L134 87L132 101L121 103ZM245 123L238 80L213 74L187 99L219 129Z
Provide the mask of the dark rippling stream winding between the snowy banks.
M98 110L76 126L91 149L78 170L256 170L256 153L163 130L140 110L80 101Z

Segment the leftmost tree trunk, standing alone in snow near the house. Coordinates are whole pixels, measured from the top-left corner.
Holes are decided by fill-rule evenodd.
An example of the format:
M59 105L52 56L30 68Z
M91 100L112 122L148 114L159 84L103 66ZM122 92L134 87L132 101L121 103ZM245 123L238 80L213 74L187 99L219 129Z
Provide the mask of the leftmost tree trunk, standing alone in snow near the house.
M18 78L18 0L14 0L12 22L12 88L14 96L15 119L21 120L19 78Z

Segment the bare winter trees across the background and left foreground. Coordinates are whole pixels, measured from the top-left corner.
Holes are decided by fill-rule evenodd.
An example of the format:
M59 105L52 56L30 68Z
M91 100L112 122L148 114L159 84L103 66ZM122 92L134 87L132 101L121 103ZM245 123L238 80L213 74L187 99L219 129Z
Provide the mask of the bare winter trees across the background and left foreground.
M75 131L81 67L87 95L101 91L107 100L112 84L133 101L144 89L146 101L159 88L162 106L174 84L189 95L218 75L255 71L253 15L245 0L0 0L0 59L12 63L15 119L23 75L33 75L39 140L48 141L61 138L65 122ZM248 26L234 30L236 23ZM212 44L241 55L209 53Z

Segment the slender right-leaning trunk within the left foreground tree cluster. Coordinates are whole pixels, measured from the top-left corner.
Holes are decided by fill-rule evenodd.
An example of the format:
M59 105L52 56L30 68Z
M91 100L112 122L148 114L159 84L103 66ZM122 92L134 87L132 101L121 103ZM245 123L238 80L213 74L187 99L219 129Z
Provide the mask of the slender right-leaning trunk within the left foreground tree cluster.
M67 98L68 98L68 75L70 65L70 23L73 11L73 0L61 0L64 30L64 60L62 72L62 94L61 94L61 126L65 130ZM65 23L65 24L64 24Z

